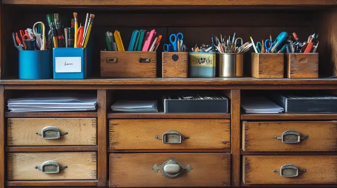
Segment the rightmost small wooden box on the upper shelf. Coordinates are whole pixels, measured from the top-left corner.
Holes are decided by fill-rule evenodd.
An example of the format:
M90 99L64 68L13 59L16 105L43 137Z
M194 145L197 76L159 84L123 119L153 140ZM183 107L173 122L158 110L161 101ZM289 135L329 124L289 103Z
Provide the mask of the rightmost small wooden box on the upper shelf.
M318 53L287 53L288 78L318 78Z

